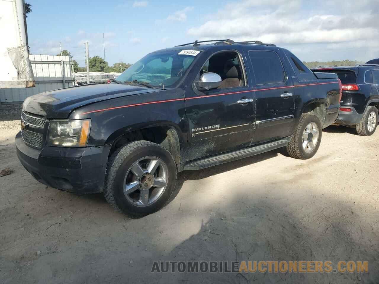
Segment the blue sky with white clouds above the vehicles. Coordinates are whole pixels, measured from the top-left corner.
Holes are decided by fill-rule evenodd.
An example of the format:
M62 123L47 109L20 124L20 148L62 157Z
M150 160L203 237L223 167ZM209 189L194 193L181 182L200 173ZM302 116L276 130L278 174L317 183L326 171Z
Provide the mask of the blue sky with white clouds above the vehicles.
M302 61L379 58L379 0L26 0L32 54L59 42L85 66L89 56L133 64L149 52L195 40L262 41ZM57 5L61 3L61 5Z

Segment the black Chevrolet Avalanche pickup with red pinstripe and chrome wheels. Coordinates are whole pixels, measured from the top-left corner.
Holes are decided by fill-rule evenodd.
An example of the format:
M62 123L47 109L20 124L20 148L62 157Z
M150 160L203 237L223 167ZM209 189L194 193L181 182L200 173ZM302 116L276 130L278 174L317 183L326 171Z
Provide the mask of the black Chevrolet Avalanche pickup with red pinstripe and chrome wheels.
M277 148L311 158L340 98L336 74L313 73L286 49L196 41L146 55L111 84L28 97L17 156L43 184L104 192L141 217L169 200L177 172Z

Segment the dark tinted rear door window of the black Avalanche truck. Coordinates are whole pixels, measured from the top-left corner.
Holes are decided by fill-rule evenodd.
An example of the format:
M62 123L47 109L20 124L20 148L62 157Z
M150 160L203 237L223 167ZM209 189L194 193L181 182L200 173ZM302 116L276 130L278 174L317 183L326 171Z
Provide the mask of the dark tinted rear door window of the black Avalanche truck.
M252 50L249 57L257 85L281 83L284 70L279 56L274 51Z

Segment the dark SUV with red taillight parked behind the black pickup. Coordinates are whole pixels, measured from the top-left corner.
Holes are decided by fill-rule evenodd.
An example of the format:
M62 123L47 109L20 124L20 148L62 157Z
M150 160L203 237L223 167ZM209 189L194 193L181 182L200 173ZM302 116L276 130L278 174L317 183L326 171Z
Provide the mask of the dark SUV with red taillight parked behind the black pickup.
M379 110L379 65L321 67L315 72L336 73L342 82L340 114L335 124L354 127L362 136L376 130Z

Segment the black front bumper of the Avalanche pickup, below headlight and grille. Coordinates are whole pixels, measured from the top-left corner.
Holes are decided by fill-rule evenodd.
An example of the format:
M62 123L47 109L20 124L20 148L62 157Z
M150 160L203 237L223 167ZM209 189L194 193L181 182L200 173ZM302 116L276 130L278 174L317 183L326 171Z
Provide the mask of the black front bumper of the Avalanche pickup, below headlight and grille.
M21 164L40 183L74 193L102 192L111 145L65 148L45 146L42 150L25 144L16 135Z

